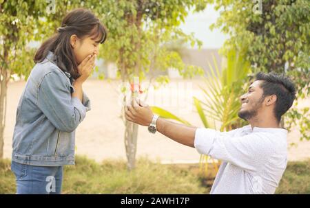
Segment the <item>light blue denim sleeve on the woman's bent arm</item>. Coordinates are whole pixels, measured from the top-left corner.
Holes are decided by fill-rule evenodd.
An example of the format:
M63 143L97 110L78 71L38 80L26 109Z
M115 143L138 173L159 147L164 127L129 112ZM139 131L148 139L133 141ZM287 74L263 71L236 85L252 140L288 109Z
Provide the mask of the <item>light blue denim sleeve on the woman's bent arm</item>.
M86 95L83 101L86 106L79 98L71 97L70 86L59 72L48 73L39 86L39 108L61 131L72 132L83 121L90 103Z

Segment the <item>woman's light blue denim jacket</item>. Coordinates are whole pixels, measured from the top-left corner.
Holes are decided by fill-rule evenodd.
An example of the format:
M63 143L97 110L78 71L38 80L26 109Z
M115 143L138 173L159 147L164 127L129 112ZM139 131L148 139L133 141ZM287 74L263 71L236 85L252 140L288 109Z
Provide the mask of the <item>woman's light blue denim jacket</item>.
M75 129L90 100L71 97L74 80L57 67L49 52L32 69L17 107L12 161L28 165L74 164Z

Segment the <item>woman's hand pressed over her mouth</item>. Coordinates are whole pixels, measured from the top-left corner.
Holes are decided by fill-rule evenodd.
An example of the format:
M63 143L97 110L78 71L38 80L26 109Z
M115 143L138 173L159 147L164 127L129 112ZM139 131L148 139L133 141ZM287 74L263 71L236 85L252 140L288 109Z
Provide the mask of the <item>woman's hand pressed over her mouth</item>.
M92 73L92 69L94 68L96 60L96 55L89 55L81 62L81 64L78 67L79 74L81 75L79 78L77 78L75 81L80 82L81 84L87 80L87 78L90 76L90 73Z

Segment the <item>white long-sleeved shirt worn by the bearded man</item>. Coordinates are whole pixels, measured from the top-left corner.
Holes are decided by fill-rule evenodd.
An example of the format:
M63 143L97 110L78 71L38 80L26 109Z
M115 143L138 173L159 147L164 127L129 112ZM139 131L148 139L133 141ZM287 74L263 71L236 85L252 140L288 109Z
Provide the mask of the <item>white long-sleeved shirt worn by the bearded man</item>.
M197 128L194 145L200 154L222 161L210 194L274 194L287 167L282 128Z

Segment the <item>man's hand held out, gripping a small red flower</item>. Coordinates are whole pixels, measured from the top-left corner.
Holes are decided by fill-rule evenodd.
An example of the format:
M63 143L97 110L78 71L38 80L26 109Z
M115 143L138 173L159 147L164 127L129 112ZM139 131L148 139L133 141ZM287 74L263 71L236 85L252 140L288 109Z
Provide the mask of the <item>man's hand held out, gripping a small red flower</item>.
M132 100L131 104L125 107L125 117L128 121L142 126L149 126L153 119L151 108L141 100Z

